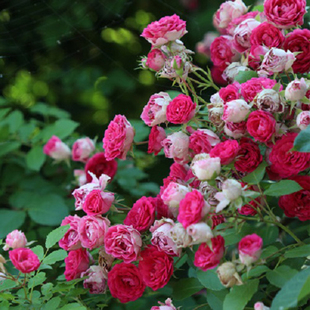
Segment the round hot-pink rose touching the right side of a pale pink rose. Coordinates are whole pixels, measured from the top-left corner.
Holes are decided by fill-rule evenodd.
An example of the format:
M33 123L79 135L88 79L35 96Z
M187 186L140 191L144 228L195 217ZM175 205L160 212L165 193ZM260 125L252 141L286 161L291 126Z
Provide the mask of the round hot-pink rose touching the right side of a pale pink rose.
M195 116L196 103L190 96L178 95L167 106L167 121L172 124L185 124Z

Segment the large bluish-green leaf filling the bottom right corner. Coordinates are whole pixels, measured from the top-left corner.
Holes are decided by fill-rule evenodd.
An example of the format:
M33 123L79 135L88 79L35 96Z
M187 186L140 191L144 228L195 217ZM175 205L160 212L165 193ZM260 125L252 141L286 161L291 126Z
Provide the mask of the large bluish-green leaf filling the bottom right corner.
M310 268L304 269L290 280L278 292L272 301L270 310L286 310L296 307L298 302L310 294Z

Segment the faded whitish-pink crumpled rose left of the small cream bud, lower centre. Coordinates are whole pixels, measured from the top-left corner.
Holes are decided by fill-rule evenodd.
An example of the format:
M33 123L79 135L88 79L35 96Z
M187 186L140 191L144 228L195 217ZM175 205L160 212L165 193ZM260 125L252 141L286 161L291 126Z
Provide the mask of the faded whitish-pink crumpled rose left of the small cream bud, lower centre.
M171 256L180 256L181 248L177 248L171 237L171 230L174 226L174 221L171 219L161 219L155 221L154 225L150 228L152 233L151 242L159 251L163 251Z

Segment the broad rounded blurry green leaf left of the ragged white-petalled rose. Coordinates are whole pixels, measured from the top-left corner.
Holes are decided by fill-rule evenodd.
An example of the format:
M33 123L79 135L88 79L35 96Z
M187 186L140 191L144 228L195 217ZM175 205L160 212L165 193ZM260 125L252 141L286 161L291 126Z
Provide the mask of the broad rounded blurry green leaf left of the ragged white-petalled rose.
M29 206L29 216L33 221L41 225L59 225L69 214L68 207L61 196L47 194L39 198Z

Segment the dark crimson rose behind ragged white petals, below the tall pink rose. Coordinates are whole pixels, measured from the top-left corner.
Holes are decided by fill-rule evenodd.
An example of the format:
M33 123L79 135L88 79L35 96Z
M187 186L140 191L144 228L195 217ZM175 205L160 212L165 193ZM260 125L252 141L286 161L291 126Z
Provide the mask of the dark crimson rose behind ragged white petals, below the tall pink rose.
M97 153L91 157L85 166L87 182L92 181L92 177L88 172L92 172L97 178L102 174L107 174L111 179L114 178L117 171L117 161L107 160L104 152Z

